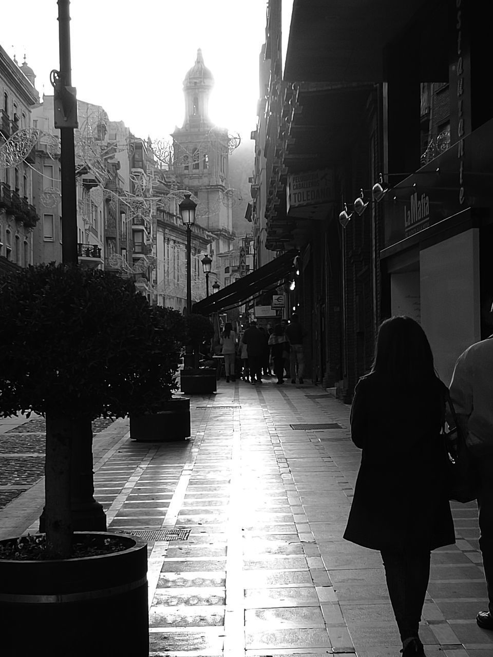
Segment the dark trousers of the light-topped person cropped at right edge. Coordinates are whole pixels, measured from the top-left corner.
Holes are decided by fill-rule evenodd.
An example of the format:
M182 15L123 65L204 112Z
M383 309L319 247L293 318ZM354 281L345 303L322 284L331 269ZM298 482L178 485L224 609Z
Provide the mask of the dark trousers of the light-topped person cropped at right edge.
M488 606L493 614L493 455L474 458L474 462L481 482L481 493L478 498L479 549L490 600Z

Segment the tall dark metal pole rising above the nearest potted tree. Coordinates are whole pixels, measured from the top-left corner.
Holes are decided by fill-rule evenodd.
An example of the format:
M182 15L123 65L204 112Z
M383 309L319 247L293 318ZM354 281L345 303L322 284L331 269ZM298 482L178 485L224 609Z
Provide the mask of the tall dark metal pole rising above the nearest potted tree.
M72 86L70 61L70 0L58 0L60 78L64 87ZM77 102L77 101L76 101ZM74 128L60 127L60 166L62 182L62 262L78 264L76 157Z

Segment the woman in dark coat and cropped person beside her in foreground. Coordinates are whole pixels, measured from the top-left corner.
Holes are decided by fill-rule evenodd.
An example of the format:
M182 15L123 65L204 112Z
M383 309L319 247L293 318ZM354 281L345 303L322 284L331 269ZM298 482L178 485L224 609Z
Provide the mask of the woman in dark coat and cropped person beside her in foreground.
M410 317L383 322L373 366L351 407L351 438L362 461L344 538L381 553L403 657L425 655L419 622L431 551L455 543L441 435L447 396L423 328ZM450 397L479 473L489 606L476 620L493 630L493 340L459 357Z

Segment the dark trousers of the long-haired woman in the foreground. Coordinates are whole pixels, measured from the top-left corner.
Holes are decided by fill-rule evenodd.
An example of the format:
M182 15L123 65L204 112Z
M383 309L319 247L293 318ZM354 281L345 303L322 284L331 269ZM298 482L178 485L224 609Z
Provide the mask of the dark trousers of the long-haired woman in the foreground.
M430 551L386 550L381 555L400 638L417 637L430 579Z

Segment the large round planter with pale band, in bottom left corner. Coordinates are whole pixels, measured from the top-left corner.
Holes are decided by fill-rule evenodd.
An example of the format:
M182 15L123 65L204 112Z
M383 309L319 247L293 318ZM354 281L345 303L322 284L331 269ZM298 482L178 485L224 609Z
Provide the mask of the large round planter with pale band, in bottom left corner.
M0 559L2 654L20 654L27 641L50 657L148 657L147 543L120 538L126 550L101 556Z

